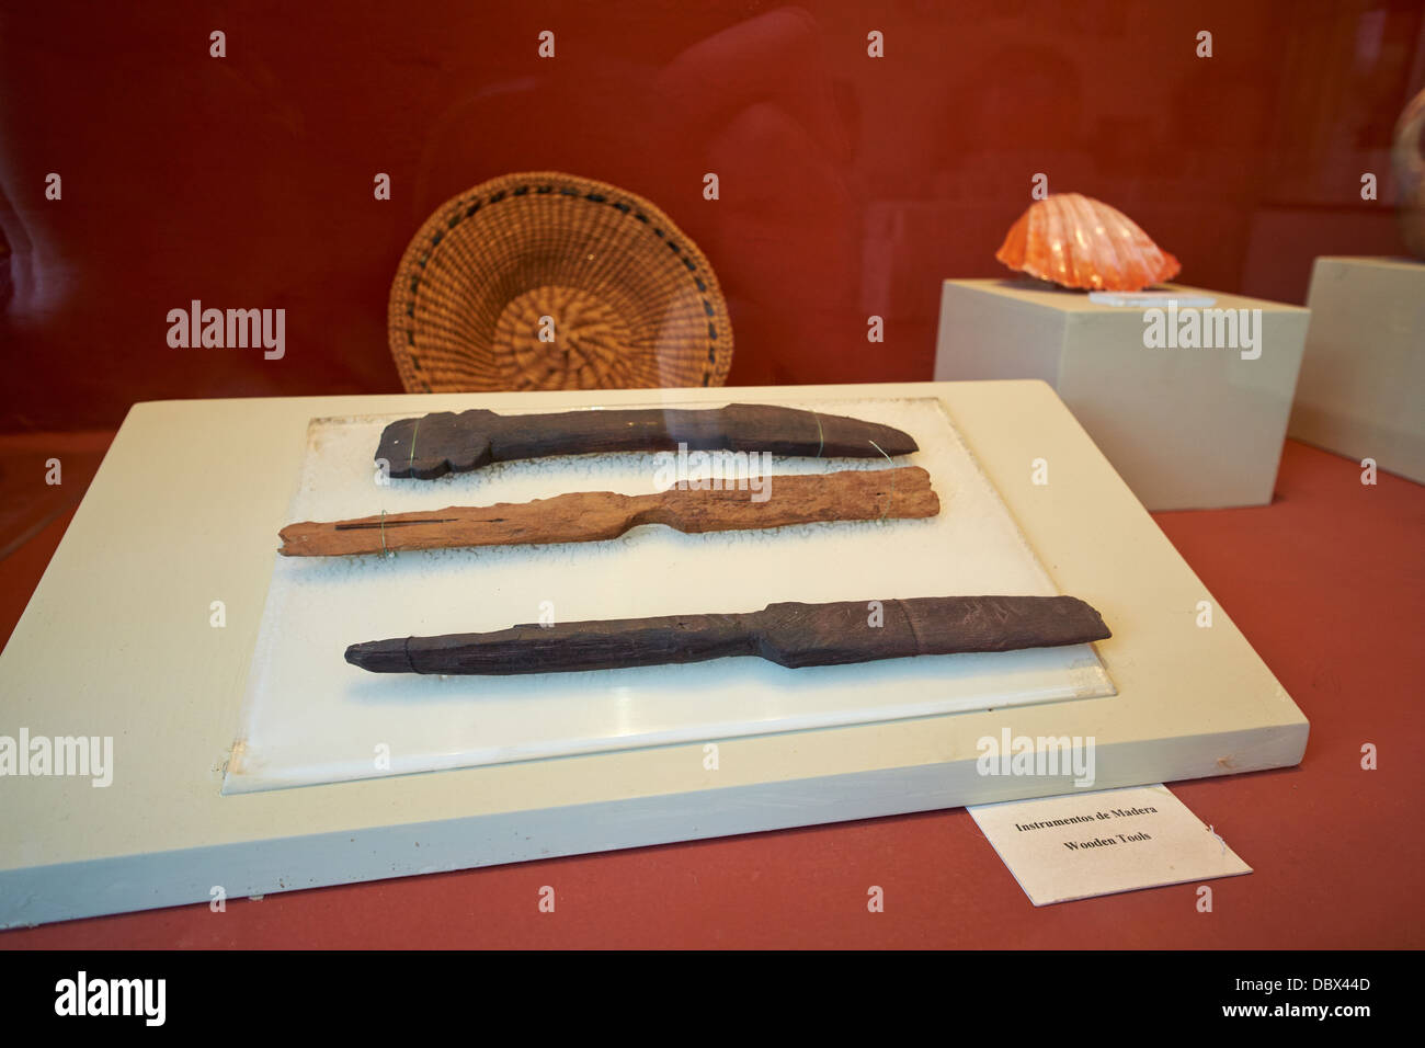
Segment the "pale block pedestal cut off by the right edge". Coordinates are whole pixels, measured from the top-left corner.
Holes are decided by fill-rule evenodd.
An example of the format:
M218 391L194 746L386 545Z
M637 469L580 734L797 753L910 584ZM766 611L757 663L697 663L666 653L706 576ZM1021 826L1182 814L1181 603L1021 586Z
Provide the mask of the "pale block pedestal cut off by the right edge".
M1288 432L1425 483L1425 262L1318 258Z

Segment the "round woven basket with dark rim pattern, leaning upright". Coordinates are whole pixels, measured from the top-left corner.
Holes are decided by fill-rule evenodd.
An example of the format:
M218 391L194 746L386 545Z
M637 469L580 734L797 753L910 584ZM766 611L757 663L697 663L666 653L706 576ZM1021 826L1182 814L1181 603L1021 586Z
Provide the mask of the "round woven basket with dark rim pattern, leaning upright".
M648 201L532 171L447 200L396 269L410 392L714 386L732 325L697 245Z

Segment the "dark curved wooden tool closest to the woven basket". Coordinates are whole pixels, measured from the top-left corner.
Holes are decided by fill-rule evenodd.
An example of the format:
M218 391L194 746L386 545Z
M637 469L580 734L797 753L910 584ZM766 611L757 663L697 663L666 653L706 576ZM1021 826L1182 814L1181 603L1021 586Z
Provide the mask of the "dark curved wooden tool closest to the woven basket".
M392 422L376 459L390 476L430 481L492 462L610 451L745 451L811 458L871 459L909 455L908 433L844 415L765 404L727 408L636 408L496 415L450 411Z

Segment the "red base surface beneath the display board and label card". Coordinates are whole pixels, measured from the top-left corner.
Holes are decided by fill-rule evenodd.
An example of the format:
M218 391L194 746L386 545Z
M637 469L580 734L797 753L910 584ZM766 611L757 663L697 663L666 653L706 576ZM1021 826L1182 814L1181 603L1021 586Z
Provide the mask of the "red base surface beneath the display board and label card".
M0 560L6 637L68 518ZM1425 488L1364 486L1288 442L1273 505L1156 519L1311 719L1297 769L1173 787L1255 868L1213 884L1213 913L1193 884L1036 910L955 808L71 921L0 948L1425 945Z

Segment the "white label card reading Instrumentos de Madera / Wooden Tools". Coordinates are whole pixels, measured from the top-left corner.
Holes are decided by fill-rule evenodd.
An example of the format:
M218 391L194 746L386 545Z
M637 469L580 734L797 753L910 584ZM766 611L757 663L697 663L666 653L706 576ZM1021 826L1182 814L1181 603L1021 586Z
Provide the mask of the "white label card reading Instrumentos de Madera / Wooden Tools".
M1166 786L968 811L1035 905L1251 873Z

